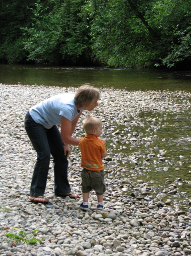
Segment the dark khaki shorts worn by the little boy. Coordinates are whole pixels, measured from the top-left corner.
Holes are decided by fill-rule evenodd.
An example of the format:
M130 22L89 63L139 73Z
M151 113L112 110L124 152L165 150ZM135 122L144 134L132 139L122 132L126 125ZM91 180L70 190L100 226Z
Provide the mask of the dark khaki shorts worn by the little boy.
M102 171L90 171L83 168L82 174L82 193L88 193L93 189L96 195L103 195L105 192L104 170Z

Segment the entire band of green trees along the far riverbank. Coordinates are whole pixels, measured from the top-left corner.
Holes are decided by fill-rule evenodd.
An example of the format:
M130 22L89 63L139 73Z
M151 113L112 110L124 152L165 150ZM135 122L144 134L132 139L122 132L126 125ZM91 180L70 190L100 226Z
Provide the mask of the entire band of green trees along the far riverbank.
M190 61L190 0L9 0L0 61L176 67Z

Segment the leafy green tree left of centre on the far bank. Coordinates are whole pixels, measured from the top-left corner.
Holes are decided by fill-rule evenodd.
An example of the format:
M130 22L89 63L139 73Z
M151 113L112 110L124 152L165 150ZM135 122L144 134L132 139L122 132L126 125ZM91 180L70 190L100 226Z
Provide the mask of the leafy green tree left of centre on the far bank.
M35 3L32 26L23 28L28 60L57 63L65 59L76 63L81 56L88 59L88 26L80 15L82 2L51 0L49 7L40 0Z

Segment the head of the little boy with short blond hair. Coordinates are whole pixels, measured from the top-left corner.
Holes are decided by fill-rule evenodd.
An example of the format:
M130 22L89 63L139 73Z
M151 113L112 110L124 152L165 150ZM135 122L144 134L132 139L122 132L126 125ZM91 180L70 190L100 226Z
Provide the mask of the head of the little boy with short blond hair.
M102 122L96 117L86 117L83 121L83 127L87 134L96 135L99 137L102 132Z

